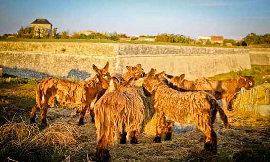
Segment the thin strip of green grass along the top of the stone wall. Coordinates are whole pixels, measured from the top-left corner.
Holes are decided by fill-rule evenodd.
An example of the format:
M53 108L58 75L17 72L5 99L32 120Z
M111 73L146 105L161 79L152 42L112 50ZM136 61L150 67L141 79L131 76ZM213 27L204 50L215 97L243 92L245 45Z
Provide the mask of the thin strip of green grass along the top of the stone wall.
M14 42L89 42L89 43L125 43L125 44L150 44L150 45L172 45L172 46L197 46L197 47L223 47L223 48L244 48L239 46L218 46L218 45L201 45L187 43L168 43L168 42L148 42L148 41L113 41L109 39L0 39L0 41Z

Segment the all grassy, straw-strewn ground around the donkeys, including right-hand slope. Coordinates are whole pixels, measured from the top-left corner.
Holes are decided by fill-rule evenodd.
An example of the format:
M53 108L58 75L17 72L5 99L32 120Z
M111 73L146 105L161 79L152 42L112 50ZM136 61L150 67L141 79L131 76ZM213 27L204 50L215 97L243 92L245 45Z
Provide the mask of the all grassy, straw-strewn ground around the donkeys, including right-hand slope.
M269 85L270 66L252 65L251 70L213 77L225 79L238 74L254 75L256 85ZM0 78L0 161L90 162L96 149L96 130L86 115L86 123L77 126L73 108L49 108L47 128L29 124L35 105L35 90L40 80L5 75ZM218 153L202 153L202 133L197 129L174 133L172 141L153 143L153 137L139 135L138 145L116 144L110 147L113 162L269 162L270 117L242 111L226 111L230 128L219 116L214 130L219 138ZM38 111L36 121L40 121Z

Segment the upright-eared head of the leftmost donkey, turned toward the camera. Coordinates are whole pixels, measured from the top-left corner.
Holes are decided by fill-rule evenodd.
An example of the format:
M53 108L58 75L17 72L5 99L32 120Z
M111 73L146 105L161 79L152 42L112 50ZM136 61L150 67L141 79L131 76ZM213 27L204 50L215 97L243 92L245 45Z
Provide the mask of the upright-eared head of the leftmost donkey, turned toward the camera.
M109 87L109 82L111 80L111 76L109 74L109 62L107 61L106 65L102 69L98 69L95 64L93 64L93 69L97 73L97 77L102 83L102 88L103 89L108 89Z

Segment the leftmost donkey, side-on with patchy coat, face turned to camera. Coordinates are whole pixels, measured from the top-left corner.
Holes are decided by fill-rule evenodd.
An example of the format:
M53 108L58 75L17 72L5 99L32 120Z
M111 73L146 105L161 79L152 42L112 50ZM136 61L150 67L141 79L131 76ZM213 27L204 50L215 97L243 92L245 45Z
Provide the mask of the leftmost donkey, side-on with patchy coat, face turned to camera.
M79 125L83 124L86 109L102 89L109 87L111 76L108 72L109 62L103 69L98 69L93 65L97 73L88 81L72 82L64 79L46 78L39 83L36 91L36 105L32 108L30 122L35 123L36 111L40 109L42 123L46 125L46 113L48 105L54 107L54 99L62 106L78 105L80 120ZM90 110L91 116L93 110ZM94 118L94 116L92 116Z

